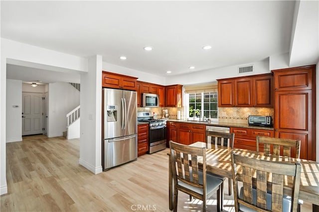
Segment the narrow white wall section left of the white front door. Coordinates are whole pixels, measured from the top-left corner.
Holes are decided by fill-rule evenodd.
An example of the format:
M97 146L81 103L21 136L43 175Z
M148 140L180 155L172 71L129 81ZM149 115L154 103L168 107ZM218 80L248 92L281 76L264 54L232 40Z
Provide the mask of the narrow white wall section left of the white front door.
M17 107L16 107L17 106ZM22 81L6 79L6 142L22 141Z

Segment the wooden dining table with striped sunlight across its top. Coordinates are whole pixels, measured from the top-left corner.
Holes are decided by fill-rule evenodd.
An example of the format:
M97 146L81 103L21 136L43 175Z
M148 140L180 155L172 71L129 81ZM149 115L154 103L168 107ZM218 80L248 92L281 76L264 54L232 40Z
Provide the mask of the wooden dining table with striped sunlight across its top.
M247 158L259 158L270 161L284 161L300 163L302 166L299 199L313 204L313 212L319 212L319 163L311 160L296 159L286 156L266 154L263 152L251 151L246 149L230 148L226 146L215 146L205 142L195 142L191 146L206 147L206 170L207 172L218 174L227 178L232 178L230 154L240 154ZM170 153L167 153L170 155ZM199 161L202 166L202 161ZM173 177L172 167L169 156L169 210L173 209ZM284 193L289 194L292 188L292 179L285 179Z

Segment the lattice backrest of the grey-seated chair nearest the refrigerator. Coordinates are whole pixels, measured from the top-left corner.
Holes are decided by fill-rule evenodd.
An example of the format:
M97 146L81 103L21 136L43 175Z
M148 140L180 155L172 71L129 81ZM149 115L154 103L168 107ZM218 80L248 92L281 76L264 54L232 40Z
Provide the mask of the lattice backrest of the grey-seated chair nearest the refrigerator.
M171 167L174 183L180 180L191 186L203 189L206 193L206 148L188 146L169 141ZM203 185L199 184L198 157L203 160Z

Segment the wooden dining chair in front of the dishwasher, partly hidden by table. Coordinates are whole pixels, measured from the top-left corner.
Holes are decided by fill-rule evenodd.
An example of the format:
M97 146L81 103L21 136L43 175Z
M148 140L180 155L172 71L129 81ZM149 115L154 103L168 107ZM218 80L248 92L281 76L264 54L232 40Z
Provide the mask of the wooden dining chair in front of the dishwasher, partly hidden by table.
M234 139L235 134L234 133L219 133L214 131L206 131L206 143L210 143L211 145L222 145L227 147L234 147ZM218 177L222 180L225 180L226 178L220 175L208 173L209 175L213 175L214 177ZM231 195L231 178L228 178L228 195Z

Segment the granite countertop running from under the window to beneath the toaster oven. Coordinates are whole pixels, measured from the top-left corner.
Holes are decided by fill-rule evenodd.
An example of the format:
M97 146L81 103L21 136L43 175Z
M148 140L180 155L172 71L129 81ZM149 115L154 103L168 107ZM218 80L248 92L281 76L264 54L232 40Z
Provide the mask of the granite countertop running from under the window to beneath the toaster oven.
M234 122L199 122L192 120L177 120L177 119L165 119L168 122L181 122L181 123L189 123L189 124L200 124L207 126L215 126L215 127L238 127L238 128L251 128L251 129L260 129L260 130L274 130L274 127L262 127L262 126L253 126L248 125L248 123L234 123Z

